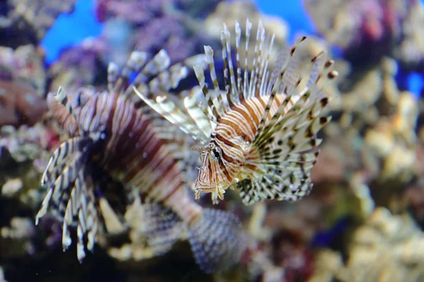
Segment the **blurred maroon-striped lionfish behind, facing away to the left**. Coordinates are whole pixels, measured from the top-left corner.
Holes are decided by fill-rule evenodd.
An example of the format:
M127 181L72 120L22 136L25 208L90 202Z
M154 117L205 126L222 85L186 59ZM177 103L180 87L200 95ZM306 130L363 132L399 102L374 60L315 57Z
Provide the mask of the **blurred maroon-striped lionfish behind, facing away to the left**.
M187 76L189 61L204 61L200 56L170 66L165 50L151 60L146 53L134 51L120 74L118 66L110 63L107 90L81 87L69 93L61 87L56 96L49 94L49 109L71 139L56 149L42 176L47 195L36 223L50 207L63 221L64 250L71 245L70 226L76 226L80 262L86 256L85 247L93 250L102 227L101 208L108 200L105 190L110 181L131 188L128 202L143 201L151 245L169 250L177 240L175 227L184 226L196 263L206 273L240 259L245 233L239 219L229 212L203 208L189 195L187 135L178 135L172 125L166 127L167 121L133 91L134 87L153 96L175 89ZM187 151L192 152L189 147ZM101 180L104 175L109 179Z

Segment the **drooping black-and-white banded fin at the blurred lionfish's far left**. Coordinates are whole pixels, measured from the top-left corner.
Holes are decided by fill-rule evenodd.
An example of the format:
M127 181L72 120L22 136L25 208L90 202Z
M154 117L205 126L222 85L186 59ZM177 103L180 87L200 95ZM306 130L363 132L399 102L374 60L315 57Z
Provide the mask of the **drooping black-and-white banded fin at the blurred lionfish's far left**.
M77 226L77 257L80 262L86 257L84 237L88 236L87 249L92 251L98 232L98 212L93 181L87 173L86 162L93 140L89 137L73 137L54 151L42 177L47 186L47 195L42 202L35 224L52 212L63 220L62 245L66 250L71 245L69 227Z

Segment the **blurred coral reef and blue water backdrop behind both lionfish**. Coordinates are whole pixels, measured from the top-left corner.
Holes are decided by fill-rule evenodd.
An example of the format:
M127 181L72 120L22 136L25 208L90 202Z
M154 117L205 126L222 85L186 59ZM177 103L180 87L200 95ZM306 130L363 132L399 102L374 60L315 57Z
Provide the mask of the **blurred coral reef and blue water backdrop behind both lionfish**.
M424 281L423 2L4 1L0 282ZM251 240L240 264L220 274L201 273L183 235L146 259L128 234L99 235L83 264L74 245L62 252L57 219L34 224L42 171L66 140L47 93L104 87L107 63L122 67L135 45L165 48L173 63L204 44L219 49L221 24L246 17L278 32L278 47L307 35L305 56L324 49L336 61L340 75L325 90L333 120L321 133L311 195L245 207L228 192L218 208L240 216Z

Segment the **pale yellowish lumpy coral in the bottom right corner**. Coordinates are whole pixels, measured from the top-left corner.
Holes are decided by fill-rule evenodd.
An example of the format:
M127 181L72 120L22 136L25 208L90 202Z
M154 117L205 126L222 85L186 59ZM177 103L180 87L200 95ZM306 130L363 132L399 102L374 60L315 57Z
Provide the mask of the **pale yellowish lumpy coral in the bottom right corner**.
M392 215L375 209L348 241L347 260L330 250L320 250L310 281L421 281L424 234L407 214Z

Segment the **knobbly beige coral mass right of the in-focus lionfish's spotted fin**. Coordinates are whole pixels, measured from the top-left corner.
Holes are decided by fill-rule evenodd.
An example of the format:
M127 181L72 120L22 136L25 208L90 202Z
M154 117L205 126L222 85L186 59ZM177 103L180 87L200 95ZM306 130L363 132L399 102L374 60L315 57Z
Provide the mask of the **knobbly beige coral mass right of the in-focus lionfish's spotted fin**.
M397 88L393 59L384 58L362 74L354 70L328 87L335 118L324 129L312 178L317 185L347 184L348 195L353 193L360 204L355 210L363 210L359 214L366 218L375 203L404 209L401 194L418 165L415 127L420 109L413 94Z

